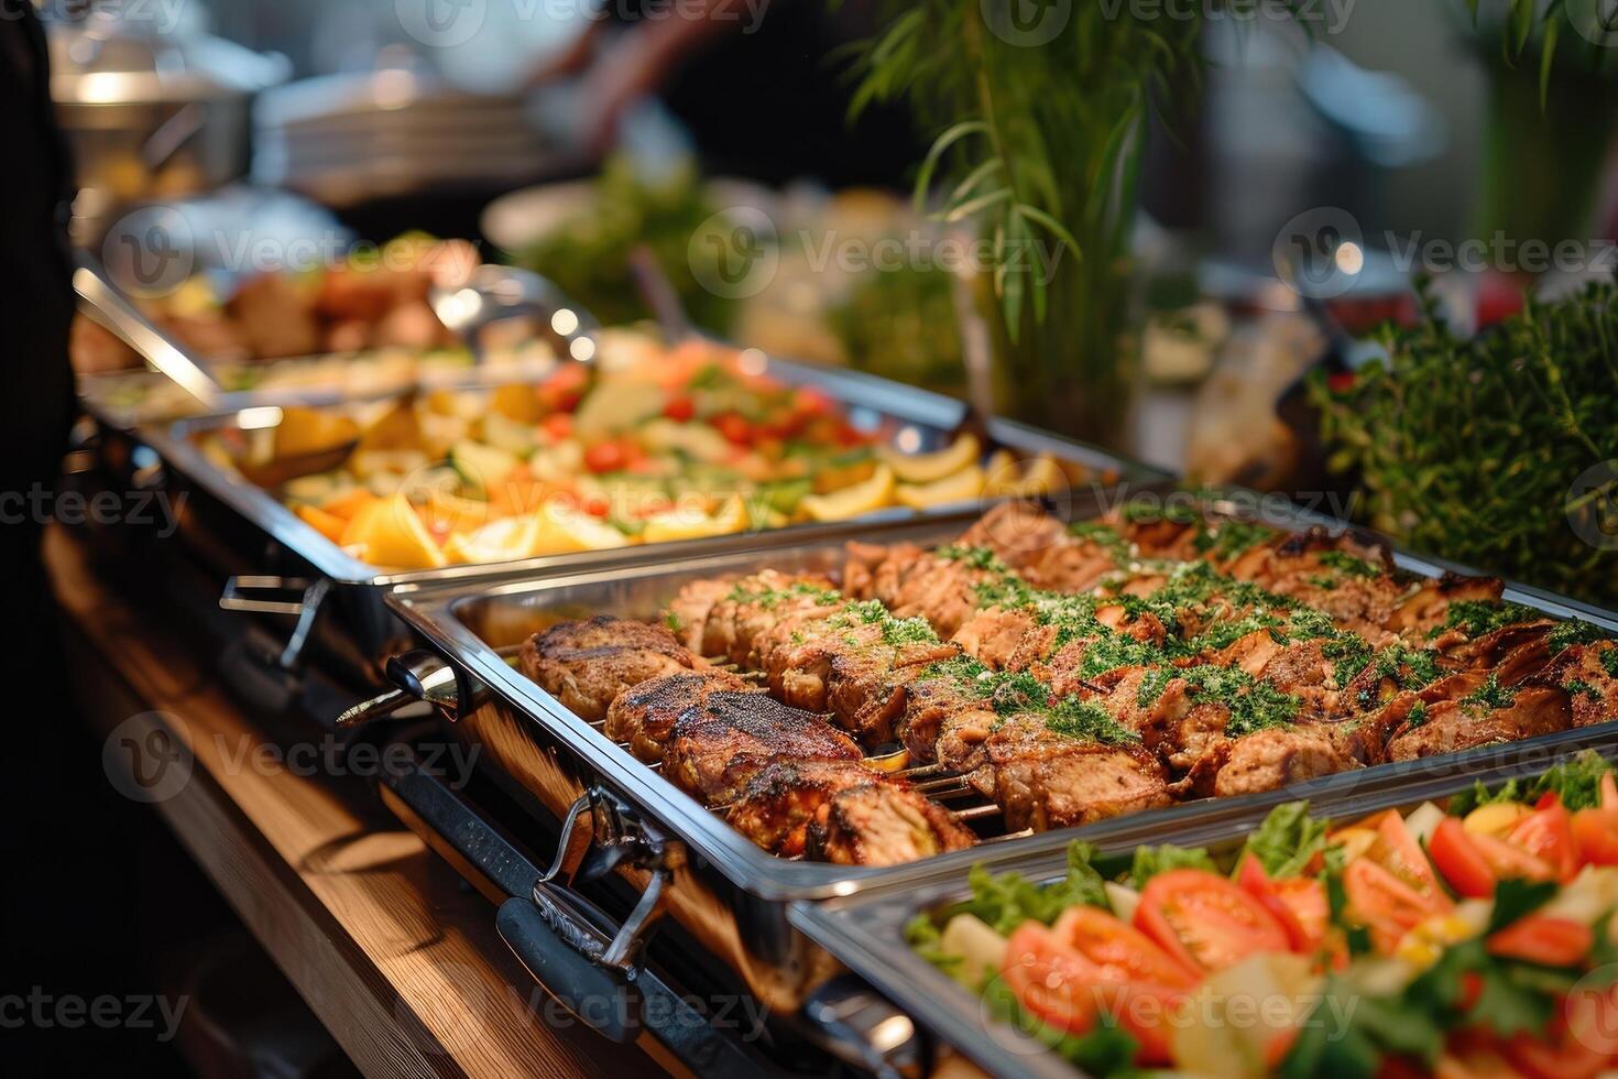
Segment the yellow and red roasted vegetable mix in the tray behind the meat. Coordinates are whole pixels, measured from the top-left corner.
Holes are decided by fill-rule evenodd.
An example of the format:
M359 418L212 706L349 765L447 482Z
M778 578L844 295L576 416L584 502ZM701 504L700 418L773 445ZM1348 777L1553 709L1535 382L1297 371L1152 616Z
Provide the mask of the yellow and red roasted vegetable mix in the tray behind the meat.
M539 383L285 408L201 442L361 561L398 569L1042 495L1081 477L1048 456L985 461L972 435L904 453L892 443L919 448L919 430L854 425L767 366L756 351L605 335L602 362Z

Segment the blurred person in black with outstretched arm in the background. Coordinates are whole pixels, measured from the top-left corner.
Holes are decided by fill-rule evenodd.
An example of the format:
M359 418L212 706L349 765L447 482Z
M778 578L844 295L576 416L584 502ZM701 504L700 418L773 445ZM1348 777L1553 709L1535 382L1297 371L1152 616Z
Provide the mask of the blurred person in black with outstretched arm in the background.
M581 83L581 133L605 154L625 113L657 95L709 171L783 184L904 186L927 150L906 110L862 108L840 50L880 31L875 5L806 0L605 0L586 32L529 78Z

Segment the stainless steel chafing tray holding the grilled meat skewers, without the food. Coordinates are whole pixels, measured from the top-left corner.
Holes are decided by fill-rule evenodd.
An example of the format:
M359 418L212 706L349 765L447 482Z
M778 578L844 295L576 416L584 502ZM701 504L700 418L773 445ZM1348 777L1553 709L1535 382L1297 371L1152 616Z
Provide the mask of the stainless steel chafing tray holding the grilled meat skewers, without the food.
M1099 497L1092 497L1091 505L1084 501L1081 498L1074 505L1076 518L1092 516L1099 508ZM1453 780L1477 768L1544 759L1544 754L1568 744L1603 736L1605 728L1613 726L1362 768L1281 791L1149 810L1068 830L1058 838L1053 838L1055 833L1003 836L993 810L984 812L982 802L964 802L966 793L956 788L940 801L968 809L971 823L987 838L984 846L892 869L843 867L788 861L756 848L718 814L636 760L508 663L511 652L529 634L558 620L600 613L652 618L691 579L741 574L764 566L781 571L835 569L848 540L947 542L974 519L976 514L968 513L924 523L848 526L812 542L778 535L767 550L665 558L657 565L578 571L549 579L513 574L500 581L406 584L395 589L388 602L442 658L416 657L411 663L395 665L393 673L411 692L447 705L456 720L453 730L481 746L482 762L537 817L555 820L584 812L579 806L612 804L637 822L629 830L649 827L662 836L663 848L678 844L683 851L681 869L668 877L670 886L660 890L657 904L670 909L710 951L741 971L752 992L773 1005L793 1005L817 977L824 977L819 950L806 945L786 919L791 903L841 898L879 886L904 888L934 874L964 872L985 857L1019 857L1024 851L1061 844L1076 835L1097 841L1120 835L1173 835L1181 841L1189 828L1201 823L1254 820L1294 798L1396 794L1413 783ZM1269 519L1290 527L1317 523L1296 513ZM1401 555L1398 561L1414 573L1442 573L1424 560ZM1618 633L1618 620L1605 611L1524 589L1508 589L1506 597L1558 618L1576 613ZM443 658L448 666L440 668ZM599 812L600 819L620 815L616 809ZM623 830L625 825L612 825L607 833ZM641 880L647 877L642 874Z

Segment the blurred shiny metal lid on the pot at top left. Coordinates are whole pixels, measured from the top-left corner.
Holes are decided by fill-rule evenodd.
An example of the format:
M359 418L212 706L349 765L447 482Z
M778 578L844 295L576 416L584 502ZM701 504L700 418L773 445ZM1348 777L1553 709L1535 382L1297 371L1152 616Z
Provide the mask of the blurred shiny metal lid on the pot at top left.
M252 94L283 83L291 65L201 32L196 21L138 19L94 10L47 24L50 95L58 105L194 102ZM131 8L133 10L133 8Z

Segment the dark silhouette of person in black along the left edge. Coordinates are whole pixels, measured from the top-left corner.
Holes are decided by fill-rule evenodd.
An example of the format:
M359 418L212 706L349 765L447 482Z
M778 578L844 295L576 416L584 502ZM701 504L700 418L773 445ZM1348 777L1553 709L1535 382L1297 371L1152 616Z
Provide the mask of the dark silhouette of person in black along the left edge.
M53 1019L57 1001L150 993L149 959L170 929L138 901L142 877L172 906L178 848L150 854L155 814L118 798L100 739L73 713L55 605L40 558L73 422L68 214L73 173L50 102L44 28L29 0L0 0L0 644L11 718L0 785L0 996L8 1074L175 1074L150 1032ZM193 870L194 872L194 870ZM154 890L147 890L150 893ZM180 916L193 919L194 909ZM39 1001L39 1003L36 1003ZM44 1016L44 1018L40 1018ZM21 1022L21 1026L18 1026Z

